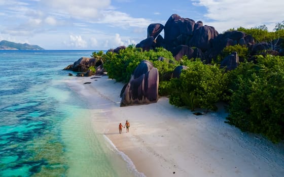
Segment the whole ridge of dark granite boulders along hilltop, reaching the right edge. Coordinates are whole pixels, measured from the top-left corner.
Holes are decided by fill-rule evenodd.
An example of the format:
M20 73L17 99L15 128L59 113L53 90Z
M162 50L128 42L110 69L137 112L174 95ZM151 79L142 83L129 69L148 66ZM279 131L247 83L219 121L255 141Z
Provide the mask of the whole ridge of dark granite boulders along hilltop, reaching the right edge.
M164 37L159 34L162 29ZM277 46L283 46L282 43L283 40L277 40L270 44L258 45L252 35L242 31L232 30L219 34L214 27L203 25L202 21L195 22L172 14L164 26L159 23L150 24L147 28L147 38L138 43L136 48L149 51L162 47L170 51L176 60L186 55L189 58L205 60L204 63L208 64L217 59L225 47L234 45L247 46L248 49L252 49L251 55L260 54L260 50L273 50L276 51L273 52L274 55L284 55L282 48L276 49Z

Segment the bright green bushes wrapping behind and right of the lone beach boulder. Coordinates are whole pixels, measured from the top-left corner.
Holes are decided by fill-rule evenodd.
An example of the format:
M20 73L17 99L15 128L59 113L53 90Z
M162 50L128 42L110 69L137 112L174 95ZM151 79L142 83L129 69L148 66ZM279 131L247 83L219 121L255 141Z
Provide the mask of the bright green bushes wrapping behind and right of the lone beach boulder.
M110 56L109 53L105 55ZM163 61L159 61L159 57L164 57ZM159 95L169 96L170 103L175 106L187 106L192 110L197 107L217 110L215 104L225 97L227 76L217 65L204 65L198 59L192 61L186 57L180 62L174 61L172 54L161 48L141 52L128 47L118 54L112 53L112 57L104 63L104 68L110 78L126 83L143 60L151 61L158 69ZM183 71L179 79L171 79L174 68L180 64L189 69Z

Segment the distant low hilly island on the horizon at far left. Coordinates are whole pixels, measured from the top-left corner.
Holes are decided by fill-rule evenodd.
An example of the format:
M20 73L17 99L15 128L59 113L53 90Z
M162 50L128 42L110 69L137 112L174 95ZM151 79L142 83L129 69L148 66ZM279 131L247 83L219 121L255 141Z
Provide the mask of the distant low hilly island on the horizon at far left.
M15 43L7 40L0 42L0 50L44 50L37 45L29 45L28 43Z

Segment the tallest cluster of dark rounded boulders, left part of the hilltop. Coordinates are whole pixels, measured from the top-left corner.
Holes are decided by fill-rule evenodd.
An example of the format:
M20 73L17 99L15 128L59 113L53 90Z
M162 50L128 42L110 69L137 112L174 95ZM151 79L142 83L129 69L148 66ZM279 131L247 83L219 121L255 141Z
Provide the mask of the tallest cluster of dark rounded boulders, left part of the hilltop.
M161 26L161 24L149 25L147 39L138 43L136 48L148 51L155 47L163 47L171 51L176 60L179 60L183 55L203 57L203 53L212 47L212 40L218 36L214 27L203 26L201 21L195 23L194 20L182 18L177 14L171 15L167 20L164 26L164 38L159 34L162 31ZM153 36L153 40L149 38L151 36ZM155 38L156 40L154 40ZM197 48L195 56L192 55L191 47Z

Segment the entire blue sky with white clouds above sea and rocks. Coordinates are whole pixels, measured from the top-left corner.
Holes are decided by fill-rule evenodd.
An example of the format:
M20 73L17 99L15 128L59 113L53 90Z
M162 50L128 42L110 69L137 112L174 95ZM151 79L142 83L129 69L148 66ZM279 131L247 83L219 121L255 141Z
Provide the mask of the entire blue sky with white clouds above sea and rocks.
M172 14L230 28L284 21L283 0L0 0L0 41L46 50L108 50L137 44ZM163 32L161 33L163 36Z

